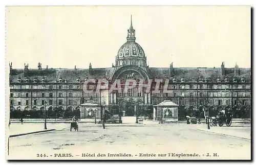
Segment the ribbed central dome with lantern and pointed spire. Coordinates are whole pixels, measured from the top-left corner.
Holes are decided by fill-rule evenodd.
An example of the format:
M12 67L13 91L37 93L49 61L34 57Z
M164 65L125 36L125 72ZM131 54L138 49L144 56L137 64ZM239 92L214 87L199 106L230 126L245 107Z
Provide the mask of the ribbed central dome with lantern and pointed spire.
M132 16L131 27L127 30L127 42L119 49L116 56L116 66L136 65L146 66L146 56L141 46L135 42L135 30L133 29Z

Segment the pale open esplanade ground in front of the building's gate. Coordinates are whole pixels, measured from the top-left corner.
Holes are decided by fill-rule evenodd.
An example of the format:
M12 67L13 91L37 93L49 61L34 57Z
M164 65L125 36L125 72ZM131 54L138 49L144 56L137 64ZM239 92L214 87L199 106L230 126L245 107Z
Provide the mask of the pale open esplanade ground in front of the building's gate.
M184 124L137 124L106 125L106 129L102 129L99 124L80 123L77 132L71 132L67 125L63 130L12 137L9 141L9 154L10 158L16 159L250 159L250 140L199 129L207 130L207 127ZM250 134L250 127L230 129L243 129L242 133ZM40 154L45 153L47 157L40 157ZM67 155L68 153L72 155ZM98 153L105 156L97 157ZM126 153L131 156L112 157L109 153ZM198 156L182 156L181 153L195 153ZM211 156L207 156L208 153ZM141 154L145 155L140 156ZM180 157L175 154L180 154Z

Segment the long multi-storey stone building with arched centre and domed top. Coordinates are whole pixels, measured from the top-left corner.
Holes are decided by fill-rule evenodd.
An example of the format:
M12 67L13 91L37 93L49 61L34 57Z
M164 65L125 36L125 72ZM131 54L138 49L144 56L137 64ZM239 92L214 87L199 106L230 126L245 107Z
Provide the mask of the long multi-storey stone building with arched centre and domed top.
M46 108L49 117L63 117L64 113L66 116L79 114L80 105L94 99L113 116L136 115L152 119L154 105L170 100L179 105L179 119L187 114L195 115L196 111L202 113L208 107L211 113L228 110L236 117L250 117L251 68L239 68L237 64L226 68L224 62L218 68L178 68L173 62L168 67L154 68L146 64L146 55L136 42L132 21L126 39L117 52L115 65L109 68L93 68L91 63L87 69L76 66L42 68L38 63L37 69L29 68L28 64L16 69L10 63L10 111L29 114ZM88 85L85 83L88 79L96 83ZM147 93L135 87L125 93L122 87L121 92L96 92L99 80L113 84L126 79L152 80L151 90ZM157 79L162 83L157 84ZM162 89L167 83L168 92L164 92ZM87 93L84 88L94 91ZM160 92L154 93L155 88ZM41 112L37 115L34 117L41 117Z

